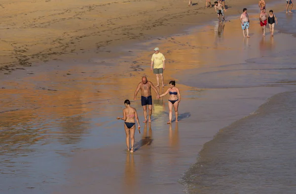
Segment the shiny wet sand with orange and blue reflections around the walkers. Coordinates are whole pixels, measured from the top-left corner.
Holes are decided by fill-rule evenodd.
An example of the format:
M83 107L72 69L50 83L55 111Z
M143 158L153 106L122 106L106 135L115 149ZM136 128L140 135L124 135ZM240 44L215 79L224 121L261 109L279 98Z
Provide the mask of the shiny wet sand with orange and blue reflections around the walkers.
M6 78L2 81L1 157L9 159L1 171L1 192L182 193L178 179L219 129L252 113L268 97L295 89L284 84L199 89L185 79L185 69L215 71L220 65L243 63L266 51L279 52L295 45L290 35L279 33L262 40L259 23L255 25L251 39L242 39L237 20L227 22L223 32L214 23L191 29L190 34L138 44L129 49L132 52L125 50L128 56L108 63L102 63L100 57L71 65L48 62L46 67L32 67L29 72L34 73L25 77ZM155 44L168 59L165 83L178 78L183 95L181 119L178 127L175 122L165 124L167 98L154 99L151 128L142 124L141 134L136 134L139 149L131 155L124 151L123 122L115 118L122 114L123 101L132 99L141 76L155 82L148 70L151 52L147 51ZM236 57L229 57L229 51ZM215 53L217 57L212 57ZM179 80L191 86L179 84ZM132 106L143 121L140 103Z

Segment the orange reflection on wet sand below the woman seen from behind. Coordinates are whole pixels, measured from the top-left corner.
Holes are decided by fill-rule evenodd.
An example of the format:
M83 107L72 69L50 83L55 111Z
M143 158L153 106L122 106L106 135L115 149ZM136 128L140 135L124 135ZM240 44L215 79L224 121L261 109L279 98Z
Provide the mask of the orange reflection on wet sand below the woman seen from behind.
M136 194L137 193L137 169L134 160L134 154L127 153L124 169L124 193Z

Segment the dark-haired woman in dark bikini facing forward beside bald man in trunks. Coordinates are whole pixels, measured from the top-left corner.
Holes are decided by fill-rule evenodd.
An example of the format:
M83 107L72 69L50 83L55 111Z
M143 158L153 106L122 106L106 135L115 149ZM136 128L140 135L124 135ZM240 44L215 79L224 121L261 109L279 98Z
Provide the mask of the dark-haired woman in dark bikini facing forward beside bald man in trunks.
M169 97L169 121L167 122L168 124L172 123L172 112L173 112L173 107L175 109L175 115L176 115L176 122L178 122L178 106L179 103L181 102L181 94L180 91L177 87L175 87L176 82L175 81L170 81L170 88L163 94L160 95L160 97L167 95L170 93Z

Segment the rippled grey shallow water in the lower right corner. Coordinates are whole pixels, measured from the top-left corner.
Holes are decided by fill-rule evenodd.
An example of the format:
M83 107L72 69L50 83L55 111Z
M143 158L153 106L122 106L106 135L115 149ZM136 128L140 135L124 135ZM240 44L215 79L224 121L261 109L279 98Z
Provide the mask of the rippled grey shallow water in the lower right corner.
M206 143L181 182L187 194L295 194L296 92L259 110Z

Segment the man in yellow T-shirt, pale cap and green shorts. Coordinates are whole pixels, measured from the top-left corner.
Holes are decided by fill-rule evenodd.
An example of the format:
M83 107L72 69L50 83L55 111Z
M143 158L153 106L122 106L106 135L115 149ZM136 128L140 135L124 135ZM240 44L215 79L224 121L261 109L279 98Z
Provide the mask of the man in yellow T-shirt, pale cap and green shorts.
M159 87L159 76L161 78L162 87L164 87L164 84L163 84L163 70L165 69L164 61L165 61L165 58L163 54L159 52L159 48L157 47L154 48L154 54L152 55L152 58L151 58L150 70L152 71L152 66L154 64L153 73L156 74L156 80L157 80L156 87Z

